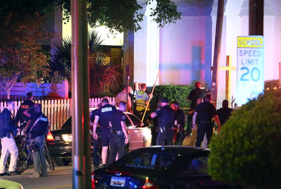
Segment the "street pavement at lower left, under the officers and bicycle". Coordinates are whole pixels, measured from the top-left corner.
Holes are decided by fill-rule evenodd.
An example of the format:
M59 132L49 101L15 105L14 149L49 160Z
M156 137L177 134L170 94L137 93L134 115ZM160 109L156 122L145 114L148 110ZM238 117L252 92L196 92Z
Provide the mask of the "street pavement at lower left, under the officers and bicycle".
M29 178L34 172L33 167L25 170L21 175L1 176L2 179L20 183L24 189L51 189L51 188L72 188L72 165L56 166L55 170L47 169L47 177ZM92 171L94 170L92 164Z

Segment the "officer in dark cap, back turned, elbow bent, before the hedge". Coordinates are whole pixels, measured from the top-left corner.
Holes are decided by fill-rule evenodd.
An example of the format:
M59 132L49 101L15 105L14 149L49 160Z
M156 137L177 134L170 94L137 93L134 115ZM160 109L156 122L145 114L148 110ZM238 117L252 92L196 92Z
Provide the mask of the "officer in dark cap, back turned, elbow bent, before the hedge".
M175 111L169 107L168 98L161 99L161 108L152 112L152 118L158 117L159 133L156 139L157 145L173 145L173 129L175 123Z

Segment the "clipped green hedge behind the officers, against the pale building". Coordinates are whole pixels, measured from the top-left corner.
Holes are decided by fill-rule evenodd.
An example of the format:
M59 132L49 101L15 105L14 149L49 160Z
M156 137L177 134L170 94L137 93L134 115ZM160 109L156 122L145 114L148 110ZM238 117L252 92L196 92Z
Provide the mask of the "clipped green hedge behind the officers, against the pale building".
M151 110L155 110L162 97L167 97L170 102L178 101L181 108L189 108L187 97L192 89L189 85L156 85L150 102Z

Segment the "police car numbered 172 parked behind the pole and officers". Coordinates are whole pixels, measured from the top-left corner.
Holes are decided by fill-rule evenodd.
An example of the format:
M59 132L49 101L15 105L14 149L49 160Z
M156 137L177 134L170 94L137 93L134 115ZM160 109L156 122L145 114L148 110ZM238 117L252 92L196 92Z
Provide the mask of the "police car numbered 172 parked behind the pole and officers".
M127 131L129 133L128 151L150 146L150 128L144 127L144 124L132 113L125 112L125 115ZM92 135L92 130L89 133ZM71 117L65 121L61 129L48 133L46 145L57 165L63 166L70 163L72 150ZM91 145L91 151L93 152L93 144Z

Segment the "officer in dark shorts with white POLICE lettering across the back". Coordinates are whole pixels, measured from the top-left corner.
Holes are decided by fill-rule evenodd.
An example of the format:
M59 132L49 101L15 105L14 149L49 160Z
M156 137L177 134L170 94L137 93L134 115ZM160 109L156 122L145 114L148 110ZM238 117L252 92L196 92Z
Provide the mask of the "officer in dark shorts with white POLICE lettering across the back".
M101 138L101 159L103 167L106 167L106 158L107 158L107 150L110 142L110 127L109 127L109 118L112 112L116 111L116 108L114 106L111 106L108 104L108 99L103 98L101 101L101 107L97 110L94 124L93 124L93 136L94 139L98 139L97 136L97 124L100 120L100 138Z

